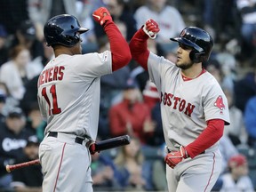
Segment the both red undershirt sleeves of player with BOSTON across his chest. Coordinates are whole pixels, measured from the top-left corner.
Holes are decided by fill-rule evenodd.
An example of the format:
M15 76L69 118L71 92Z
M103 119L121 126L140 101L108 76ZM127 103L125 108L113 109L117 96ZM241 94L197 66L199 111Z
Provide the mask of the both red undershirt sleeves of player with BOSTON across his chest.
M148 70L148 35L140 28L129 44L132 53L132 59L136 60L142 68ZM223 135L225 122L221 119L212 119L208 121L207 127L198 138L186 146L188 155L191 158L201 154L207 148L210 148L214 143L220 140Z

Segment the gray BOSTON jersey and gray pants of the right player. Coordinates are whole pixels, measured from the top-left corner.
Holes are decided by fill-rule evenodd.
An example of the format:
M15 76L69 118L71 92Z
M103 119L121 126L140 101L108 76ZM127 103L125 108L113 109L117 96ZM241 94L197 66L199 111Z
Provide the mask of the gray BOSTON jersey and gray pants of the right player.
M169 149L177 150L196 140L208 120L223 119L229 124L228 101L209 72L188 80L174 63L150 52L148 74L161 92L164 139ZM183 159L174 169L166 165L168 190L211 191L220 171L221 155L216 142L204 154Z

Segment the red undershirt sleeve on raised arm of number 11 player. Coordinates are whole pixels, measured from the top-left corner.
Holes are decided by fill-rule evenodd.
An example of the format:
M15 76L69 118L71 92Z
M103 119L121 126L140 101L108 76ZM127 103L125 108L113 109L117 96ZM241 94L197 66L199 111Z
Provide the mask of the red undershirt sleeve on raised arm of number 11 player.
M129 45L113 21L108 20L104 25L104 30L108 36L112 53L112 71L116 71L123 68L132 59Z

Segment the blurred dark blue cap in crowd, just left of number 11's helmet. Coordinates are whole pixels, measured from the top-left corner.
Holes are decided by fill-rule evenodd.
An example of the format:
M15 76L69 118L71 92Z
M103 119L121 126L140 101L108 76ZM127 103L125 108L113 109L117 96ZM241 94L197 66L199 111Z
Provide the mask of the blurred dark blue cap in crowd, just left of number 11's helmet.
M36 39L36 28L31 20L24 20L20 24L20 33L28 40Z

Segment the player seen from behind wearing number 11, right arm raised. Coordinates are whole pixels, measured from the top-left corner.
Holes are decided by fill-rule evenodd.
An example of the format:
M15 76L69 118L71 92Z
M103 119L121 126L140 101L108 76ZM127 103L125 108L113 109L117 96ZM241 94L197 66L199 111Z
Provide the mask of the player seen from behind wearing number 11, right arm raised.
M38 103L47 119L39 147L45 192L92 191L94 151L88 149L88 143L96 140L98 131L100 76L132 59L129 45L108 10L100 7L92 16L104 28L110 51L83 55L80 35L89 29L81 28L72 15L57 15L44 25L46 43L55 54L37 84Z

